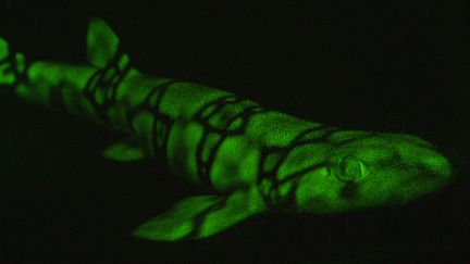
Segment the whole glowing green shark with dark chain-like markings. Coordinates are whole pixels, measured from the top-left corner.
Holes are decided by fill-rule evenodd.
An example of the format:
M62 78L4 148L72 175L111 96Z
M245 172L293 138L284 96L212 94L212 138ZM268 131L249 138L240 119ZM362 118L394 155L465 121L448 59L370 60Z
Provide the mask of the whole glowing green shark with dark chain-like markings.
M87 47L86 65L28 62L0 39L0 84L26 101L129 135L104 156L166 159L175 175L208 189L137 227L137 237L205 238L272 210L397 206L453 178L446 158L418 137L332 127L143 74L100 18L90 21Z

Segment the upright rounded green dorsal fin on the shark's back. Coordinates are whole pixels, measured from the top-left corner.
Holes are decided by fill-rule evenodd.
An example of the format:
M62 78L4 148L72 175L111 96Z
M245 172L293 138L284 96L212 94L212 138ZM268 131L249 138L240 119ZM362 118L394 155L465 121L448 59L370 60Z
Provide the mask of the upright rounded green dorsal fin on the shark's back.
M113 59L119 48L119 38L101 18L92 17L88 24L87 56L94 66L103 68Z

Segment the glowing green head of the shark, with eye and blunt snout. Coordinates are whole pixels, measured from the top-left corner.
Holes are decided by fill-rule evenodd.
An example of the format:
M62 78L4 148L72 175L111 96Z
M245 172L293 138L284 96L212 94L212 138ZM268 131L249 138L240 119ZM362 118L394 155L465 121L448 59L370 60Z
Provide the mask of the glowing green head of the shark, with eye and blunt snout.
M396 206L430 194L453 178L431 143L410 135L339 130L304 150L314 169L297 178L295 205L311 213Z

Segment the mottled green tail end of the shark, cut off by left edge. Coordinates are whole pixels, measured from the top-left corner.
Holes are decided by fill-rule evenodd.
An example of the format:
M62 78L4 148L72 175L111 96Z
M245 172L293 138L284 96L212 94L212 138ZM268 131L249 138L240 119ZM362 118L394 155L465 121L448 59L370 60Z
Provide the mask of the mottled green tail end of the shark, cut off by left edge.
M16 86L26 67L25 56L12 51L7 40L0 37L0 86Z

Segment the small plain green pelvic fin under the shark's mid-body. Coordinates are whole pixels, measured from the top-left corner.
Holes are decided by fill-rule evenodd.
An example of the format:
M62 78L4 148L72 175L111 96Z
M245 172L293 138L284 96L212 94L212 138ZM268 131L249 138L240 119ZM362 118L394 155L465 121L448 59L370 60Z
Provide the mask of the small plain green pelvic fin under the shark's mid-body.
M102 154L104 158L113 161L138 161L146 156L145 151L140 146L140 142L133 138L111 144L103 150Z

